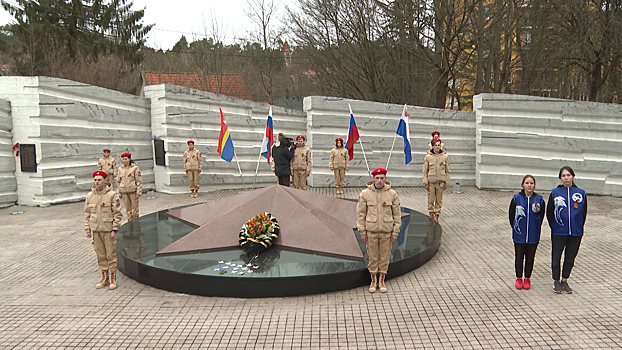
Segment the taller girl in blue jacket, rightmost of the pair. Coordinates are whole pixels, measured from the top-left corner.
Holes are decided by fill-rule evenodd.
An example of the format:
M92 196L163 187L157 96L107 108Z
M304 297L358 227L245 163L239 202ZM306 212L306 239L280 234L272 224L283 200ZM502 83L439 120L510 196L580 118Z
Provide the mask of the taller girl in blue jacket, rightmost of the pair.
M546 218L551 226L551 269L553 272L553 291L571 294L568 277L579 252L583 226L587 217L587 197L585 191L574 184L574 170L565 166L559 170L562 184L551 190ZM560 276L560 260L564 252L564 267Z

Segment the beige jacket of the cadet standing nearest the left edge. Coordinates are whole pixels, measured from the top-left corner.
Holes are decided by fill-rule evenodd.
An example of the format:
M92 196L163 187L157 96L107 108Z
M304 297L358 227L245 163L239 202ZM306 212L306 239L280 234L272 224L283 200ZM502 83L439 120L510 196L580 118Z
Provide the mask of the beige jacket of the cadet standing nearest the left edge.
M86 195L84 201L84 231L110 232L118 230L123 214L117 194L109 187L97 191L95 186Z

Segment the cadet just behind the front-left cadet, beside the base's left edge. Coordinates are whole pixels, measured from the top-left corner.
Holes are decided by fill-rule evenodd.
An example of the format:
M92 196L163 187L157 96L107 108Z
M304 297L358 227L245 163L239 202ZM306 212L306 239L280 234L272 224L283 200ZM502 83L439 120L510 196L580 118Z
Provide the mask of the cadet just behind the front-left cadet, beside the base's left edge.
M123 160L117 176L119 198L123 198L127 221L138 218L138 197L143 194L143 178L136 163L132 163L132 155L123 153Z

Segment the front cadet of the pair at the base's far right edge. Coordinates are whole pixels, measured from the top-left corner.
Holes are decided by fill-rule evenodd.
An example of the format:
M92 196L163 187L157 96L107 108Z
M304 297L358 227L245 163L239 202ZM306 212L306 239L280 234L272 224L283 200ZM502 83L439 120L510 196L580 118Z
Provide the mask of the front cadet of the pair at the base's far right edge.
M443 206L443 191L449 182L449 157L441 149L441 140L430 142L432 149L423 159L423 184L428 191L428 213L438 221Z

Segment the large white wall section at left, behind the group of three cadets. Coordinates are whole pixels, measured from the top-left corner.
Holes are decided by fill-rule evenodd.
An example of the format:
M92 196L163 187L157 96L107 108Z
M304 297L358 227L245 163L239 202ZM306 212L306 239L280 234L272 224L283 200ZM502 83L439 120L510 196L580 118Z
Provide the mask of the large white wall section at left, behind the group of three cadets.
M47 77L0 77L0 98L11 102L13 141L36 148L37 172L15 165L20 204L82 200L104 148L132 153L153 187L147 99Z

